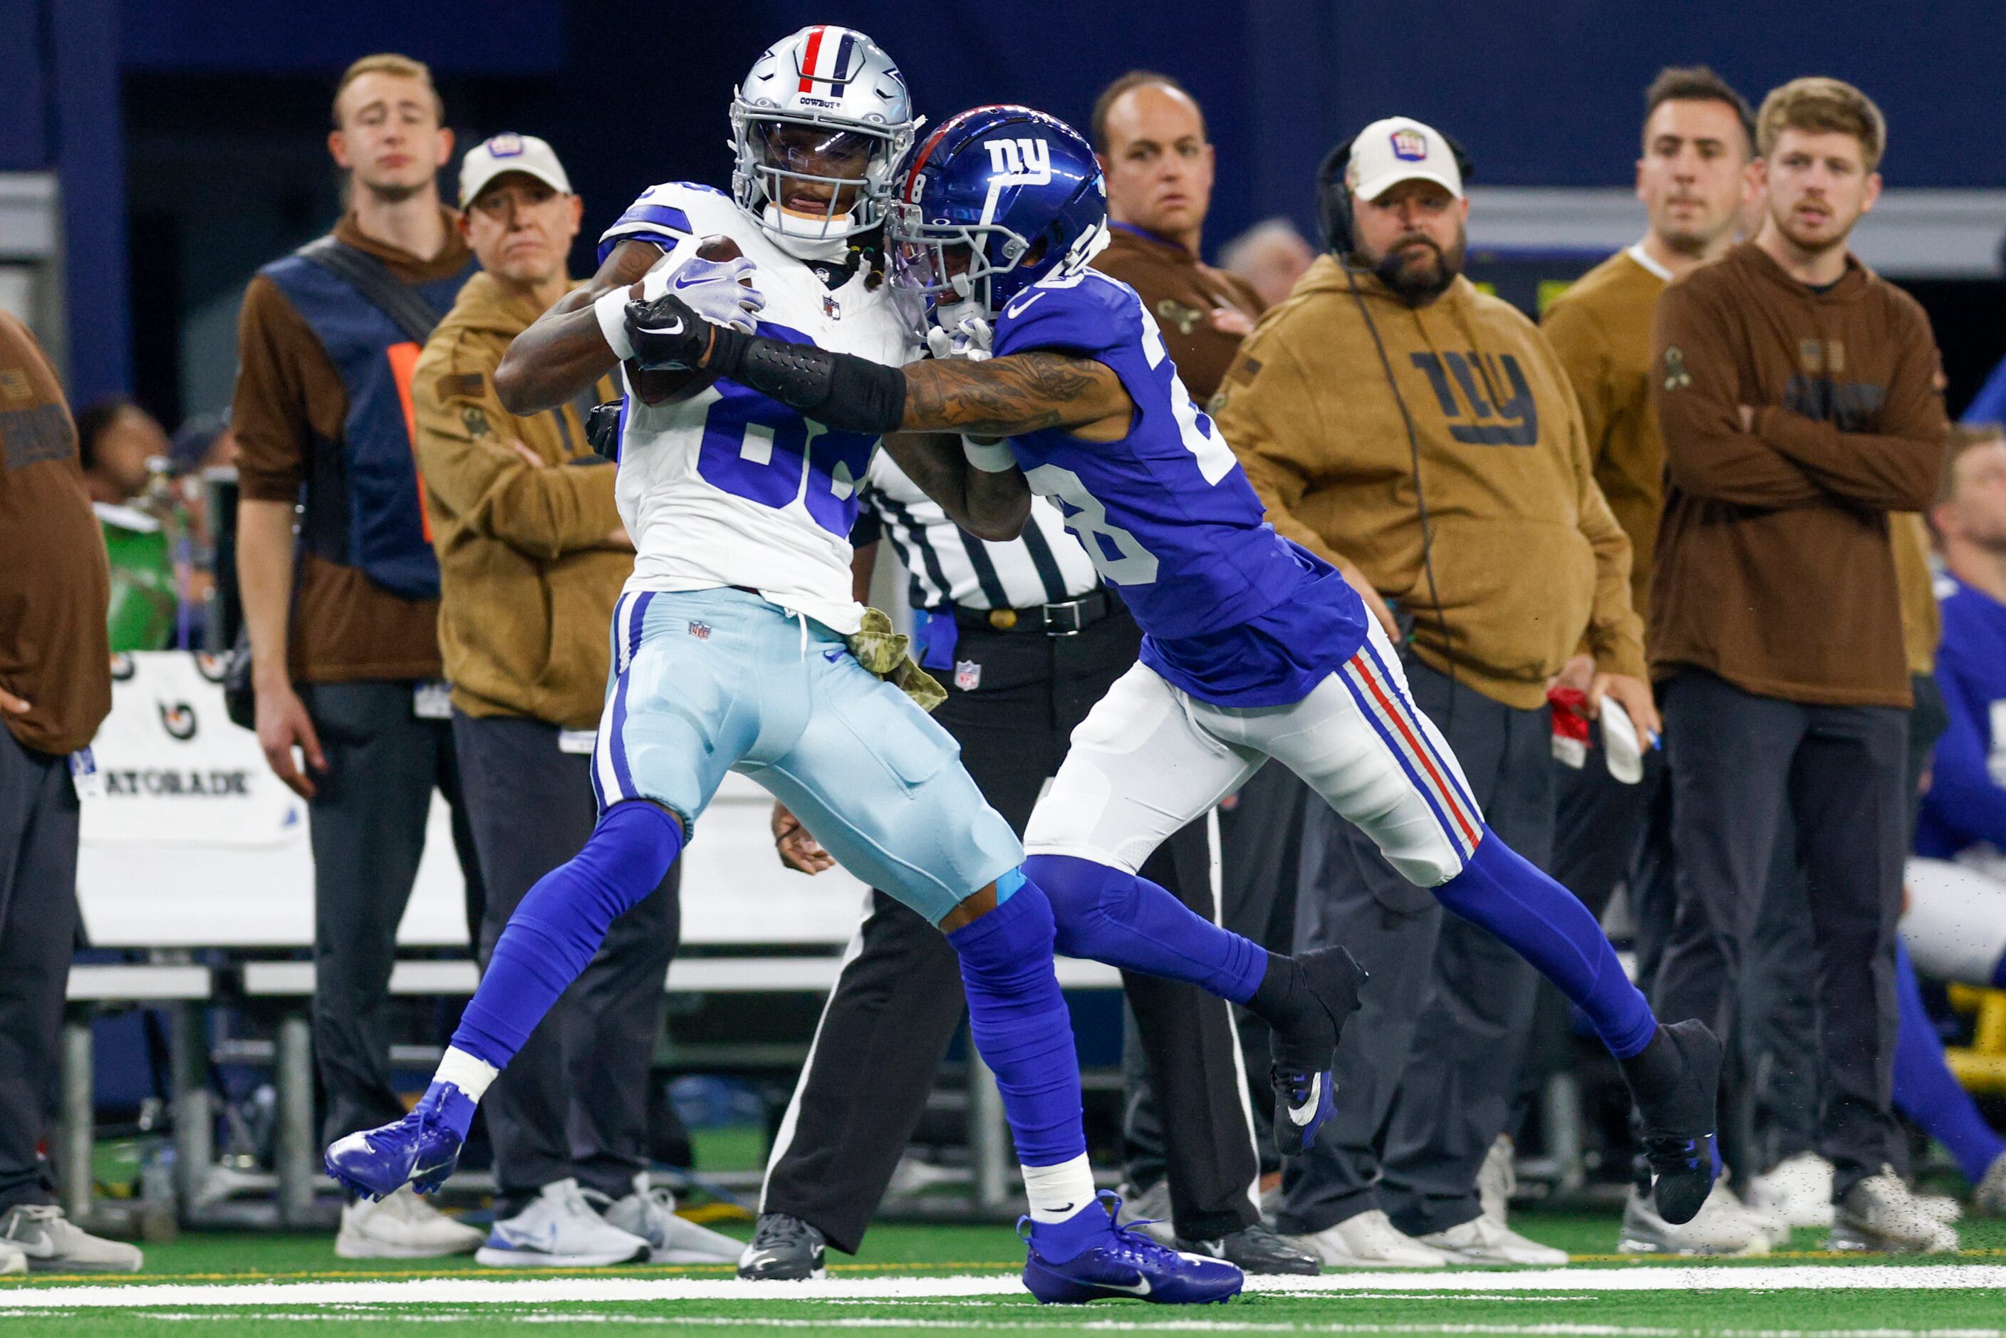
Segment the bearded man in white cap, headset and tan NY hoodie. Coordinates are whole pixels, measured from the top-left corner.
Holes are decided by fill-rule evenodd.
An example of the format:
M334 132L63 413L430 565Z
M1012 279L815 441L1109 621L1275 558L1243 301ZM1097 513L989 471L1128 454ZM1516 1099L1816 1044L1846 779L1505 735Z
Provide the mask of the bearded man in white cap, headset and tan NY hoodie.
M1274 528L1352 564L1398 610L1414 702L1448 736L1490 826L1553 853L1547 684L1595 660L1587 714L1657 730L1631 548L1539 329L1462 277L1468 171L1392 116L1320 173L1328 255L1242 345L1212 399ZM1288 1167L1282 1230L1330 1264L1565 1262L1482 1214L1535 973L1444 917L1348 822L1312 804L1298 947L1372 973L1338 1047L1338 1117Z

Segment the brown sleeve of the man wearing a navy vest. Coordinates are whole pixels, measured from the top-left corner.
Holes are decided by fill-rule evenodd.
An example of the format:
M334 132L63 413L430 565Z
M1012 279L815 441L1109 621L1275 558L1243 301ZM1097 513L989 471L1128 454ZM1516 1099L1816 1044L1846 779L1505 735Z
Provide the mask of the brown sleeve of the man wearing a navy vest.
M299 499L313 433L299 359L317 347L279 285L255 277L237 313L237 389L231 397L237 483L251 501Z

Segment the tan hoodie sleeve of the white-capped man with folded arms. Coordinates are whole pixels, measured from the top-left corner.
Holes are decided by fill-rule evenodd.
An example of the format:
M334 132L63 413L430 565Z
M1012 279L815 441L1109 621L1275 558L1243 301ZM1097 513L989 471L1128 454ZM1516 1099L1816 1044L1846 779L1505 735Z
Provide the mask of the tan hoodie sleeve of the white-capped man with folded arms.
M417 415L417 463L437 506L473 534L508 544L526 558L550 562L602 544L620 528L614 469L608 465L534 467L508 445L516 419L493 391L493 369L477 373L479 393L441 395L467 385L459 367L419 379L411 403Z

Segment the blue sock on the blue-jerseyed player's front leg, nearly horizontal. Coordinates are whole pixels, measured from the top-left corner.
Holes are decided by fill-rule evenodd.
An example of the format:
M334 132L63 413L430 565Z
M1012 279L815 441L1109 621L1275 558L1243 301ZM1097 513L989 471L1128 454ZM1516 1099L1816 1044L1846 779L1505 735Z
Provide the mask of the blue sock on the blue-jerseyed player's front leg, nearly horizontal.
M1149 879L1071 855L1033 855L1023 871L1051 899L1057 951L1065 957L1186 981L1234 1003L1260 989L1268 951Z

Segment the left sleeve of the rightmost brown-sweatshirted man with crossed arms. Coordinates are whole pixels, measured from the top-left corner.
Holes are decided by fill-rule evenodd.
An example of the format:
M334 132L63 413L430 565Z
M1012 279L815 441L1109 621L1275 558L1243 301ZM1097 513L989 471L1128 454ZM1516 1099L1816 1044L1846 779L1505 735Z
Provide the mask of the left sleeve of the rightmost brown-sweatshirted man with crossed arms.
M1787 455L1741 431L1733 323L1693 283L1657 299L1651 323L1651 409L1665 437L1665 475L1695 497L1787 508L1825 501Z

